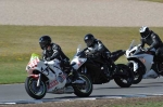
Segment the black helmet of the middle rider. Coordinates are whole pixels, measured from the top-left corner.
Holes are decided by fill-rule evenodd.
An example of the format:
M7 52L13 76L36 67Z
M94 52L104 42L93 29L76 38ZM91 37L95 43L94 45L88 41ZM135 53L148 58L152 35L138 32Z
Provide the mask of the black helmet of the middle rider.
M95 41L95 37L91 34L88 34L85 36L84 38L85 43L87 44L87 46L92 45L93 41Z

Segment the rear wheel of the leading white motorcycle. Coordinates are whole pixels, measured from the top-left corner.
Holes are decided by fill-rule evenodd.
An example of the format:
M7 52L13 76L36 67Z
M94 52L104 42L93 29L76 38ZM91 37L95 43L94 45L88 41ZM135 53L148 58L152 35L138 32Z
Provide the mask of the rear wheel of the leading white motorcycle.
M75 84L74 94L78 97L88 97L92 92L92 82L86 75L79 75L79 79L83 80L84 84Z

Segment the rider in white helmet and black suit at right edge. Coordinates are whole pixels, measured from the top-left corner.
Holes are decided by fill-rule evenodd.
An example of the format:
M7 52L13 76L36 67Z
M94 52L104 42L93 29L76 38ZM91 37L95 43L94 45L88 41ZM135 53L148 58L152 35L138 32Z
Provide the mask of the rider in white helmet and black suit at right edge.
M143 48L147 43L149 48L145 49L146 52L154 48L156 50L155 57L163 57L163 43L160 37L147 26L142 26L139 32L141 36L140 46Z

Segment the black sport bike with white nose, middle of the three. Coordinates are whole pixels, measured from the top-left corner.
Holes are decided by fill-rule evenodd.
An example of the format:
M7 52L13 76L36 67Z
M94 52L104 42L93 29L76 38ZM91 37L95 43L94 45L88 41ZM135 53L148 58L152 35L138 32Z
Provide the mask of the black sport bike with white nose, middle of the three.
M114 79L117 85L121 88L129 88L133 83L133 71L124 64L116 65L116 71L112 71L110 64L101 57L91 57L86 54L86 49L82 46L77 48L77 52L72 59L71 64L74 64L74 69L78 72L90 77L93 84L103 84ZM120 56L124 55L124 51L118 50L112 53L112 58L116 61ZM114 55L113 55L114 54ZM106 76L104 71L108 71Z

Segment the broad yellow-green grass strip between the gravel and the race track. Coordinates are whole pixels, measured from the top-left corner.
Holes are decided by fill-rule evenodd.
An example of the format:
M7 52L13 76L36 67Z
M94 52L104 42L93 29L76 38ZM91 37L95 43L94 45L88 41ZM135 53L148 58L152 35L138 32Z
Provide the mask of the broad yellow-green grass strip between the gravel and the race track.
M163 39L163 27L152 28ZM26 64L32 53L41 55L38 39L51 36L72 59L78 44L88 32L100 39L110 51L126 50L131 40L139 40L138 27L54 27L54 26L3 26L0 25L0 83L24 82ZM122 57L117 63L126 63Z

